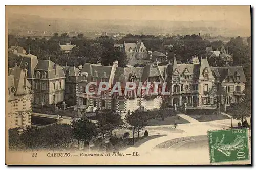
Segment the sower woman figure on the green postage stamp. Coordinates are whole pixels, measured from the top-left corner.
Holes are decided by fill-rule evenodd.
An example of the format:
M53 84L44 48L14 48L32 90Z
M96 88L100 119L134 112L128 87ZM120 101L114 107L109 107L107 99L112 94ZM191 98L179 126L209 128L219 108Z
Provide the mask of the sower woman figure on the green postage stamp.
M236 139L232 143L222 143L224 141L225 134L222 134L222 139L219 142L219 138L216 138L216 142L212 145L212 149L217 149L218 151L222 152L226 156L231 155L231 151L242 151L246 148L245 144L245 136L237 135Z

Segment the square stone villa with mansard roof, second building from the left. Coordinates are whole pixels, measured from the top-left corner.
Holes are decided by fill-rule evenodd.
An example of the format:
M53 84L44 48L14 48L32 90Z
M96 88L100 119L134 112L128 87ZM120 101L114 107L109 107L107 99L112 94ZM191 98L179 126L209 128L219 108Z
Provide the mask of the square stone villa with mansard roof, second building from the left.
M65 74L63 68L49 60L38 60L32 54L22 55L20 68L28 72L32 85L32 107L56 105L64 101ZM10 68L12 70L13 68Z

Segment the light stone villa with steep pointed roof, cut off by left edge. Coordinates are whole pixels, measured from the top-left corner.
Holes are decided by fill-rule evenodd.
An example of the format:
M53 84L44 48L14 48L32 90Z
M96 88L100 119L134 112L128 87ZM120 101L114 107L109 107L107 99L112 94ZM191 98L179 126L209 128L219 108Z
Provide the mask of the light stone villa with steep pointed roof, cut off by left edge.
M31 125L31 102L31 84L27 80L27 70L15 67L8 75L8 129Z

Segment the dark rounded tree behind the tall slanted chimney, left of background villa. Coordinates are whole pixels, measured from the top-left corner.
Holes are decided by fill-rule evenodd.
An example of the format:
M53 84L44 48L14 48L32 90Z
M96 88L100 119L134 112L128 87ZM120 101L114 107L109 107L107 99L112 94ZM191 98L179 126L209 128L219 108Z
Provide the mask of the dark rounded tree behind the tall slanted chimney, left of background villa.
M119 67L125 67L128 63L127 55L118 50L118 48L111 48L102 54L103 65L113 65L113 61L118 61Z

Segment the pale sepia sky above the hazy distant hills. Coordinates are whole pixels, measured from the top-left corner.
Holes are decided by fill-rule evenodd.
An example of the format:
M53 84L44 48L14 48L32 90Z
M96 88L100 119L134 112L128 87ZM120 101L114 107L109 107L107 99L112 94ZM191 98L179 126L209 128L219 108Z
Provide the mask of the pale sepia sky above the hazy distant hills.
M7 6L6 12L93 20L232 20L250 27L250 6Z

